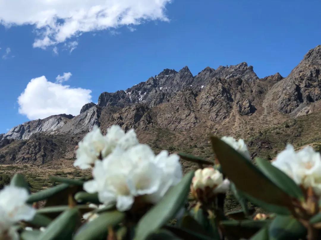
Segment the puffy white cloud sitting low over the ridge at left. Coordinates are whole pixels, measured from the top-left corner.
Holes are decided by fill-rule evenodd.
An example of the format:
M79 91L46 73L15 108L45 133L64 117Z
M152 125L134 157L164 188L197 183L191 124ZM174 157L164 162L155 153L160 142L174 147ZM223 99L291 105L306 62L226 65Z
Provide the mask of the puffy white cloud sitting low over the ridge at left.
M52 83L45 76L31 79L18 97L19 113L30 120L62 113L78 115L91 101L91 90Z

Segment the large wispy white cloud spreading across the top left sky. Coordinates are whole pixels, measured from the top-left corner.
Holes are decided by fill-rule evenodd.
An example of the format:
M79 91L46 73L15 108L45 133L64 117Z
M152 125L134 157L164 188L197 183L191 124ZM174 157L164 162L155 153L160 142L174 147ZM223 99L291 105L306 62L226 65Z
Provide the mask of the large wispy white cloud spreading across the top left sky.
M46 48L84 32L168 21L171 0L15 0L0 1L0 24L34 25L34 47Z

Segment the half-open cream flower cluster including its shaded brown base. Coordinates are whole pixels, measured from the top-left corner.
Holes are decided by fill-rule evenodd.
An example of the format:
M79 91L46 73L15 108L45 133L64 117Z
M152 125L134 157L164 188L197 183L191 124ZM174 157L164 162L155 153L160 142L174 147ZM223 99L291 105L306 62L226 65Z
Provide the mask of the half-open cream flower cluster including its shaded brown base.
M207 167L195 171L191 184L191 192L198 200L211 201L215 195L226 193L229 186L230 181L223 179L223 174L220 171L213 167Z

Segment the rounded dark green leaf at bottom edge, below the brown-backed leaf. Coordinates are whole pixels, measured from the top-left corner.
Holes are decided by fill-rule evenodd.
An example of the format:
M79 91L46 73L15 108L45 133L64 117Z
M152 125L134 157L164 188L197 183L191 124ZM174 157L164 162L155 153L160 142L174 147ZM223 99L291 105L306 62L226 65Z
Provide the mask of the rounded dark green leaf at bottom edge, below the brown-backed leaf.
M307 229L292 216L276 216L269 227L270 240L305 239Z

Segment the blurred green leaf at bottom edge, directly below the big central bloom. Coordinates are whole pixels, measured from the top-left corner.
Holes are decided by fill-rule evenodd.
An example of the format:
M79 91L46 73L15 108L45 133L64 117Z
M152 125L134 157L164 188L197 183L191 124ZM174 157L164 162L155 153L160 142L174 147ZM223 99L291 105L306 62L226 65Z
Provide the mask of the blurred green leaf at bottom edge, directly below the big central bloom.
M107 236L108 227L118 225L124 218L124 212L101 213L98 218L85 223L74 236L74 240L95 240Z

